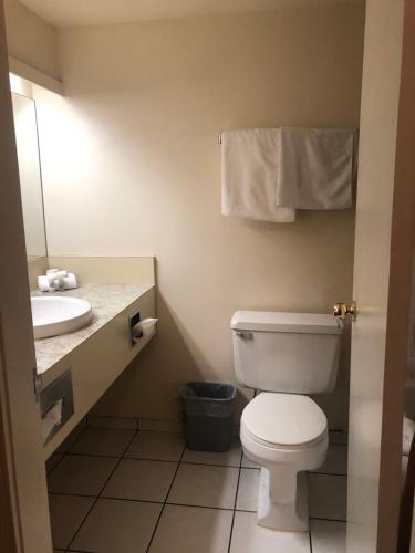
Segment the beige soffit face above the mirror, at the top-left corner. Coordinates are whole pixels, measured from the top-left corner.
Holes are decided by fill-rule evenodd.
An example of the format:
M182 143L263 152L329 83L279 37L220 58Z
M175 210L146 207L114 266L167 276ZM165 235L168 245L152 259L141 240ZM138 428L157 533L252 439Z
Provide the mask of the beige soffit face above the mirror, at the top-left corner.
M22 6L4 0L9 55L59 79L56 30Z

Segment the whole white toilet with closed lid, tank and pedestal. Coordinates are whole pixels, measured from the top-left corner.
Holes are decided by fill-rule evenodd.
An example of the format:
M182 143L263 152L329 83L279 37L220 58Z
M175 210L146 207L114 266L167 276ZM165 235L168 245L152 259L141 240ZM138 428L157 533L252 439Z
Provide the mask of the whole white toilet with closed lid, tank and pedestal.
M231 319L238 382L258 394L243 409L245 455L261 469L258 524L309 529L307 470L328 450L328 420L305 394L335 386L343 322L332 315L238 311Z

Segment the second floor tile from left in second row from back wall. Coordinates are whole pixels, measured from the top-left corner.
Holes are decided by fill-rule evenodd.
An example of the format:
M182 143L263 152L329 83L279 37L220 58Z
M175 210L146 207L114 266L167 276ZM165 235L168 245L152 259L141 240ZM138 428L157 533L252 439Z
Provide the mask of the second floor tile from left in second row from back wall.
M165 501L176 462L123 459L102 493L106 498Z

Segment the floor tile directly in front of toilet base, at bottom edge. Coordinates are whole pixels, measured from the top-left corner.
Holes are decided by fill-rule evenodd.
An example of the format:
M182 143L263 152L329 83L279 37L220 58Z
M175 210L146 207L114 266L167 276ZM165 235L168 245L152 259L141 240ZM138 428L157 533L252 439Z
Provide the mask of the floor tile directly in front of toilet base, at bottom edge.
M230 553L310 553L308 532L277 532L257 524L256 513L236 512Z

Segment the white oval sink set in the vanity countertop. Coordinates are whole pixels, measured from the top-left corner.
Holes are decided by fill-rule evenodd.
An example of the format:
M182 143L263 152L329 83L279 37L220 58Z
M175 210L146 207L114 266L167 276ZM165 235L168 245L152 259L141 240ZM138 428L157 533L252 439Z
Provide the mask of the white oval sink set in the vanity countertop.
M35 338L46 338L79 331L89 325L92 307L85 300L52 295L32 296L33 334Z

